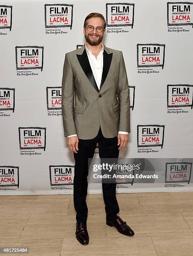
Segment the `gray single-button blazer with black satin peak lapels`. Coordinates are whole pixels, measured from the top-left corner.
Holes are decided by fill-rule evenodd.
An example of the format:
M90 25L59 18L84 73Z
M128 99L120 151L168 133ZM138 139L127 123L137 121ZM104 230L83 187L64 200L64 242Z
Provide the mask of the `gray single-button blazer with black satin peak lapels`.
M130 90L122 51L104 46L100 90L85 46L66 53L61 101L65 137L92 139L100 125L106 138L130 132Z

